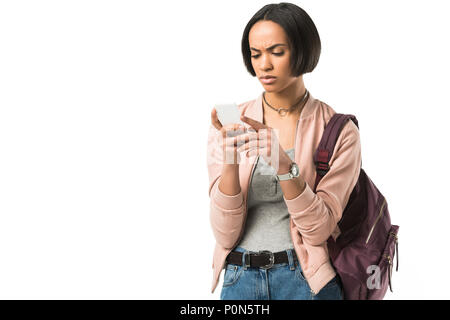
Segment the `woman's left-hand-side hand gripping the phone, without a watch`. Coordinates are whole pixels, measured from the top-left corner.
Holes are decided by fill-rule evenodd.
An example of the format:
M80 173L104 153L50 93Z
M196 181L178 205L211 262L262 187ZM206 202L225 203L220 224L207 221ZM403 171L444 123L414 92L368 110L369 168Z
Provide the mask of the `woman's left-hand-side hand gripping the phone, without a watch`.
M211 124L217 129L217 141L222 150L222 163L224 165L237 165L241 158L237 151L240 144L238 144L238 136L245 133L246 129L240 124L228 124L222 126L215 108L211 111ZM241 143L242 144L242 143Z

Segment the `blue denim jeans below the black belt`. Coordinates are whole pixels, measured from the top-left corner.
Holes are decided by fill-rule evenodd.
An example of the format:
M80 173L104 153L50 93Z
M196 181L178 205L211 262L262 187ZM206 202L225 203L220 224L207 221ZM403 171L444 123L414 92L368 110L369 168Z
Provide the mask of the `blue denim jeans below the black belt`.
M250 252L241 247L242 265L227 263L221 300L342 300L339 276L331 279L317 294L313 294L300 264L293 259L294 249L287 249L288 263L274 264L270 269L244 267L245 255Z

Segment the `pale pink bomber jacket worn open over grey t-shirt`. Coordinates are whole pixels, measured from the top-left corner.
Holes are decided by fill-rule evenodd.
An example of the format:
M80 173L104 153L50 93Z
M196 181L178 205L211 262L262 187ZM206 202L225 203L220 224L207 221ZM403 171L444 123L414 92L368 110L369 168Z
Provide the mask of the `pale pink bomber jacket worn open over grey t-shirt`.
M241 114L263 122L262 93L254 100L239 105ZM328 256L327 239L336 238L337 226L359 176L361 145L358 127L353 121L343 127L330 159L330 170L312 191L316 179L314 152L319 145L325 125L335 111L311 94L297 122L295 162L306 181L305 190L294 199L286 199L290 215L290 234L302 272L313 294L317 294L336 272ZM245 124L246 127L249 125ZM241 191L226 195L219 188L222 171L222 150L217 130L209 127L207 164L209 175L210 223L216 240L213 254L213 293L225 259L239 243L247 215L247 195L257 156L241 154L239 180ZM281 146L280 146L281 148Z

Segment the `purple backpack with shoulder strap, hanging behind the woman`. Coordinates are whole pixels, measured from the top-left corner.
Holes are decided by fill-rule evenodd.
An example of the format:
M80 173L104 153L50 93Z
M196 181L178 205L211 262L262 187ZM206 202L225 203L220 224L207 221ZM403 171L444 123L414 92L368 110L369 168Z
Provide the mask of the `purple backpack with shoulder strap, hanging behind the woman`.
M335 113L325 127L314 154L317 170L314 192L329 169L328 161L339 133L349 119L359 129L354 115L341 113ZM341 279L344 299L383 299L388 285L392 291L396 251L398 271L399 226L391 224L386 199L362 168L338 226L341 234L336 241L330 236L327 244L331 262Z

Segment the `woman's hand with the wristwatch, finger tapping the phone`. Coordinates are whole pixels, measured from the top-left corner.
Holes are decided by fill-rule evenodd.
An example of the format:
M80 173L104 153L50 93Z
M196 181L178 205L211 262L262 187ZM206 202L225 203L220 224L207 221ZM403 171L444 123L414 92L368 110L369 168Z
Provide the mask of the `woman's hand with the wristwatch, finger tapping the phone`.
M244 144L237 151L245 151L247 157L261 155L278 174L288 172L292 160L281 147L275 130L244 115L241 116L241 120L249 124L251 129L238 137L238 144L240 142Z

